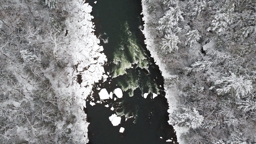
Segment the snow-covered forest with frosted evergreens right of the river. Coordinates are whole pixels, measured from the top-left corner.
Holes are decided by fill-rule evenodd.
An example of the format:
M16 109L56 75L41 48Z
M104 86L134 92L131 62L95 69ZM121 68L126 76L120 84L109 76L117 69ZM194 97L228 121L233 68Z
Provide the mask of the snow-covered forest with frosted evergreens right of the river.
M255 143L255 1L145 0L184 143ZM170 102L172 103L172 102ZM172 104L170 104L172 105Z

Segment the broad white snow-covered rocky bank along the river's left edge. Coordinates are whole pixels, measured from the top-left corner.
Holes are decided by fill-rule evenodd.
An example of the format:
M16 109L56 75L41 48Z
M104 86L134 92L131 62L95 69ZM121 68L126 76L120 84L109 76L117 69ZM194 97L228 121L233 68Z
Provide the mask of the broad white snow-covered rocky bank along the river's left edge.
M76 121L70 123L72 129L71 135L74 141L88 143L88 125L87 115L84 113L86 108L86 98L93 93L92 87L95 82L99 82L105 73L103 65L107 61L100 46L100 40L94 35L94 25L91 21L93 16L90 15L92 7L84 0L72 1L71 16L66 20L68 34L64 39L63 49L67 51L69 60L67 68L67 77L69 84L61 83L57 86L55 79L51 79L52 87L56 93L72 97L73 104L71 109L66 107L64 110L69 111L76 116ZM65 75L63 75L65 77ZM50 76L48 76L50 77ZM56 80L57 81L57 80ZM59 124L60 123L60 124ZM59 121L61 128L63 122Z

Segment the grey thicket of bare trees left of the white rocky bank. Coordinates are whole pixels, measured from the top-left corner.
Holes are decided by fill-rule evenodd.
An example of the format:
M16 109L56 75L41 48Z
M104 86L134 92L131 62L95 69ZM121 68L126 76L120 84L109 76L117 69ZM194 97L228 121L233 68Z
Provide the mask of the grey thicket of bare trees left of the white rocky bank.
M69 1L0 1L0 143L78 143L70 135L78 118L62 108L72 97L44 75L66 82L69 10Z

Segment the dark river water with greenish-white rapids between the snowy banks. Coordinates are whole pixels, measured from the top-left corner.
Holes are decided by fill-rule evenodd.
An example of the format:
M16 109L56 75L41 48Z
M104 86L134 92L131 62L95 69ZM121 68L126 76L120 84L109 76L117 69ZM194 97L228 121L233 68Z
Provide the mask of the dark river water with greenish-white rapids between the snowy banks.
M92 21L96 27L95 35L102 39L103 52L108 58L104 69L111 75L106 82L95 83L93 102L100 100L99 88L106 88L109 93L115 88L123 91L122 98L116 101L114 98L104 100L102 104L96 103L94 106L89 104L92 99L87 99L85 112L90 123L89 143L153 144L167 143L167 139L176 143L173 127L167 122L169 118L167 99L164 97L164 79L146 49L145 38L140 30L143 26L141 1L86 2L93 7L91 15L94 16ZM147 98L143 97L144 93L149 93ZM158 94L154 99L153 93ZM105 107L106 104L113 106L114 111ZM113 126L109 120L109 116L114 113L122 118L118 126ZM125 118L129 119L125 121ZM125 128L123 133L119 132L120 127Z

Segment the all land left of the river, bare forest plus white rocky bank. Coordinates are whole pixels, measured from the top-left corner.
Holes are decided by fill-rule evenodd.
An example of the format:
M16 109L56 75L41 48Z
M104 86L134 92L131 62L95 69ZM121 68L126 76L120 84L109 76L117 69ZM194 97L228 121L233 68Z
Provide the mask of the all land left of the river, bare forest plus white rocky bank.
M106 61L91 11L82 0L0 1L0 143L88 142L84 99Z

